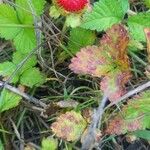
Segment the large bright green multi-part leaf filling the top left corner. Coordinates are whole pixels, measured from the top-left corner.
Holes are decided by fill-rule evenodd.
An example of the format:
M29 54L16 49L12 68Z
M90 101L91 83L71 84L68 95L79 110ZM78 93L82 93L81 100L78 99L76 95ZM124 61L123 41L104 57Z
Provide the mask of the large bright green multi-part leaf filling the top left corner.
M34 16L42 14L45 1L16 0L16 10L7 4L0 5L0 34L14 41L18 51L29 53L36 47ZM8 27L9 26L9 27Z

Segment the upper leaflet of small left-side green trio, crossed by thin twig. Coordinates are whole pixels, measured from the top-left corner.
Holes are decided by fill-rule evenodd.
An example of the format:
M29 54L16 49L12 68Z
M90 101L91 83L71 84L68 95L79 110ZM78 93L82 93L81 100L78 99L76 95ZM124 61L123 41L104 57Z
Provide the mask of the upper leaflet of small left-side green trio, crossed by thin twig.
M22 54L19 51L14 52L13 54L13 63L18 65L19 63L21 63L25 58L27 57L26 54ZM23 65L23 71L27 70L29 68L34 67L37 64L37 59L36 56L32 56L30 58L28 58L28 60L25 62L25 64Z

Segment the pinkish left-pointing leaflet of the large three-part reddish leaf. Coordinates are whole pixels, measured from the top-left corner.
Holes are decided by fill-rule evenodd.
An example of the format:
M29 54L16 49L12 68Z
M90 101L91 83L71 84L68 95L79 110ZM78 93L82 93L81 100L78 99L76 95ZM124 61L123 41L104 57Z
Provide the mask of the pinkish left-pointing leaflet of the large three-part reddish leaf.
M97 46L82 48L76 57L72 58L69 68L77 74L101 77L112 67L101 51L102 49Z

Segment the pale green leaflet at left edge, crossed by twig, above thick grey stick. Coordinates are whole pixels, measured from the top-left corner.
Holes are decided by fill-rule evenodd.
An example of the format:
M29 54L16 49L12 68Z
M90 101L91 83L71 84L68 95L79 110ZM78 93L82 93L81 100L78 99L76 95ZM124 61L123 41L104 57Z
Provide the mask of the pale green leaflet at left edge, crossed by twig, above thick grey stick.
M0 75L7 80L15 71L16 65L12 62L6 61L4 63L0 63ZM19 80L19 73L17 72L10 82L16 83Z

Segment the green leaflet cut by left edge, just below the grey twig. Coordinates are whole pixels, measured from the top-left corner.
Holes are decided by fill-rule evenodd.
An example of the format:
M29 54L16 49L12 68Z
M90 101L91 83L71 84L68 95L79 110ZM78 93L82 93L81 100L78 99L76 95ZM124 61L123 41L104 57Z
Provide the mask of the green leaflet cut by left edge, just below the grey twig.
M16 107L21 98L21 96L4 89L0 95L0 112Z

